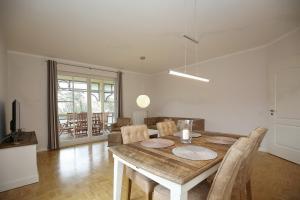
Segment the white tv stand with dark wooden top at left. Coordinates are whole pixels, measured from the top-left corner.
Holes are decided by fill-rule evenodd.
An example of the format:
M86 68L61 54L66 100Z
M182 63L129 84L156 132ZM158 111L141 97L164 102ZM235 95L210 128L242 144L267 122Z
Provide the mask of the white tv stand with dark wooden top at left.
M18 132L0 144L0 192L39 181L35 132Z

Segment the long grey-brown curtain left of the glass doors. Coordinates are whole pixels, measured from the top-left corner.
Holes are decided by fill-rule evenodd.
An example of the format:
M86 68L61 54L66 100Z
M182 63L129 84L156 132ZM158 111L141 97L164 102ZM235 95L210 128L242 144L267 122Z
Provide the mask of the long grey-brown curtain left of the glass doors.
M48 82L48 149L59 148L57 118L57 62L47 61Z

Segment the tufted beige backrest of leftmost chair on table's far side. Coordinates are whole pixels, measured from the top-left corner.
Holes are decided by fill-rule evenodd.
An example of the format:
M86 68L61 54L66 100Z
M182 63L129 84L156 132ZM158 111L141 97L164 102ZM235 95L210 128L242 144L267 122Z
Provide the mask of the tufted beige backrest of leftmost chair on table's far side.
M133 125L121 127L123 144L139 142L149 139L148 129L146 125Z

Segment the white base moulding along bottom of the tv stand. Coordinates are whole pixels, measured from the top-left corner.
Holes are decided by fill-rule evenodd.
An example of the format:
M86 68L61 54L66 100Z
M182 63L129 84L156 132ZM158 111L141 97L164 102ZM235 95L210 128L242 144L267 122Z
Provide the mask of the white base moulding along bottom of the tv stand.
M28 176L17 180L1 183L0 192L39 182L39 175Z

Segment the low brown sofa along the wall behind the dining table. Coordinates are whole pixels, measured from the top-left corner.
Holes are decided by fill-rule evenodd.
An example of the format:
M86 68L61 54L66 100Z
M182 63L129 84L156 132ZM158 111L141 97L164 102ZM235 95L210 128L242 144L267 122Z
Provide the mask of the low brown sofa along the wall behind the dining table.
M144 123L147 125L148 129L157 129L156 124L158 122L172 120L177 124L178 120L193 120L193 130L204 131L205 121L201 118L187 118L187 117L147 117L144 119Z

